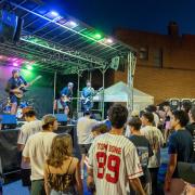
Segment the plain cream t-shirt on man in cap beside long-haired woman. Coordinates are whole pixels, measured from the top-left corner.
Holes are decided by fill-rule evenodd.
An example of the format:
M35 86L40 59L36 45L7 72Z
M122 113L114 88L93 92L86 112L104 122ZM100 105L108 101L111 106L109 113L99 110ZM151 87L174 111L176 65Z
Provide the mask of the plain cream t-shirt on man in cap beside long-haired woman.
M23 156L30 158L31 181L43 179L44 162L54 136L56 136L56 133L41 131L28 139Z

